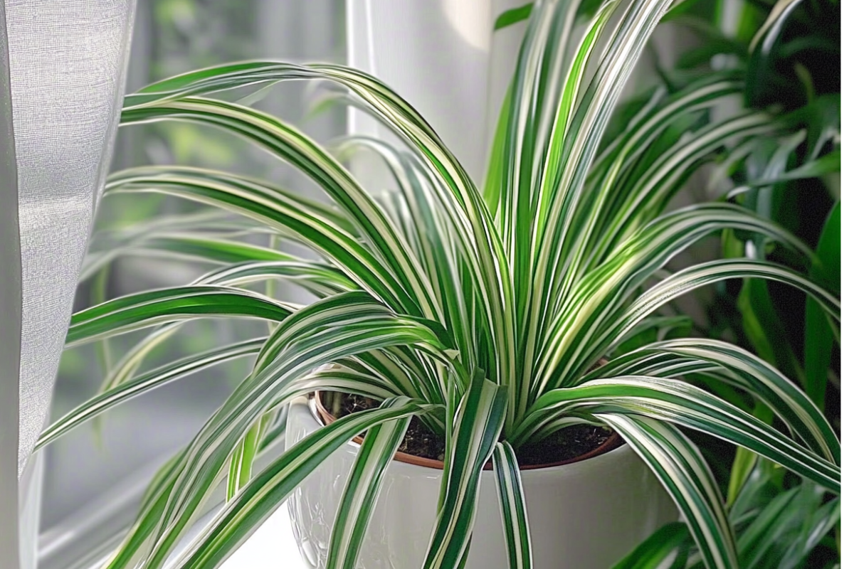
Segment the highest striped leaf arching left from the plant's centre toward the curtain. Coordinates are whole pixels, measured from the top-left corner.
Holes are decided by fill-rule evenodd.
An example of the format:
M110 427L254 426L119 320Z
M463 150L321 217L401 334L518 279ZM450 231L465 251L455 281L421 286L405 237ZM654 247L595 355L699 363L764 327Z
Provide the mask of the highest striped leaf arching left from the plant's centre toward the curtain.
M494 376L500 380L514 377L515 361L508 349L514 344L512 287L506 258L498 234L488 219L483 198L459 165L459 160L447 150L435 131L415 109L377 79L333 65L298 66L250 61L185 73L149 85L142 93L126 98L126 109L131 113L130 119L144 120L146 111L143 107L153 102L173 101L181 96L236 89L249 84L307 78L325 78L353 90L374 109L377 118L418 148L424 166L442 184L442 192L437 197L449 212L448 223L455 228L457 235L467 236L461 253L476 271L472 286L477 293L471 298L484 307L483 317L488 329L485 340L491 346L488 353L495 355L494 362L484 362L483 367L494 371ZM235 113L239 114L239 111L235 110ZM196 117L200 116L196 113Z

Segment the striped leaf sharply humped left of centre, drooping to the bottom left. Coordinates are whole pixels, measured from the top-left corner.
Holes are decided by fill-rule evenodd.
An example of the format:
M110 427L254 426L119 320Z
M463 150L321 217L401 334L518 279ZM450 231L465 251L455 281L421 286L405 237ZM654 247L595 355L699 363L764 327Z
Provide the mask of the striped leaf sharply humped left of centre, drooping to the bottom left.
M442 357L442 344L431 328L395 315L365 293L320 300L280 324L260 351L255 373L237 386L190 444L174 475L173 487L167 496L161 496L163 509L140 520L137 531L129 537L140 545L151 544L150 552L144 554L149 566L159 567L166 560L239 440L254 421L274 404L282 403L280 397L293 381L342 357L409 343L424 345ZM137 554L128 547L122 552L110 569L125 567Z

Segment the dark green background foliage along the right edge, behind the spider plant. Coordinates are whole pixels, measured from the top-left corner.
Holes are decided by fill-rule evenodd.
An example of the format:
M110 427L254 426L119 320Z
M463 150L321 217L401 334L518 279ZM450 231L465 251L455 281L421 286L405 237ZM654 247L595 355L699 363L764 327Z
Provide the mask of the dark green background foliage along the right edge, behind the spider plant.
M766 28L772 3L719 2L705 14L682 15L705 42L682 55L680 73L707 70L711 56L746 77L742 107L787 114L789 128L779 136L757 139L723 160L711 175L710 191L729 193L798 235L819 261L810 274L839 293L839 3L785 7L777 25ZM746 183L752 179L768 184ZM721 251L792 263L784 250L757 235L725 231ZM772 282L728 282L716 287L708 310L710 325L702 334L728 336L773 363L804 387L839 433L839 335L809 299ZM762 404L739 396L729 400L771 420ZM751 453L734 453L710 439L701 447L727 496L742 565L839 566L838 498ZM676 543L687 552L686 540L676 537L681 531L674 526L651 537L641 548L645 560L631 557L624 566L659 566L660 555ZM676 558L666 566L686 562Z

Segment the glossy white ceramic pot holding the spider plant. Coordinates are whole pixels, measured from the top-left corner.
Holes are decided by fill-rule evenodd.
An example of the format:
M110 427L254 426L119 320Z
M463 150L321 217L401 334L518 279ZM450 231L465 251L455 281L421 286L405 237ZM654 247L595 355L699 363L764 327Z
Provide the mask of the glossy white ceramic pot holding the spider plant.
M313 402L290 405L286 444L320 427ZM308 566L325 566L338 501L358 445L336 451L288 499L296 542ZM395 460L383 480L360 553L359 569L417 569L436 515L442 471ZM492 471L484 471L467 569L507 567ZM525 470L537 569L607 569L666 522L673 502L635 452L623 444L580 462Z

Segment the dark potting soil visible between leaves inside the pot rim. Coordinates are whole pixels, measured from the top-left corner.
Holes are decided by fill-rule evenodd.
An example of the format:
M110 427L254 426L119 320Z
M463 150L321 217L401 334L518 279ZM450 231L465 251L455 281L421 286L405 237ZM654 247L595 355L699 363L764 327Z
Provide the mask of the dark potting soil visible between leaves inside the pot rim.
M335 401L334 395L324 393L323 404L336 419L379 406L379 402L375 399L341 394L341 397L337 398L338 401ZM539 466L569 461L576 456L598 449L610 437L611 430L605 427L571 425L535 444L526 444L518 450L517 459L520 466ZM412 417L407 434L398 450L407 455L442 461L445 458L445 441L430 431L418 417Z

